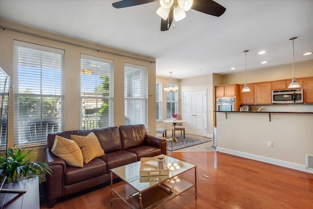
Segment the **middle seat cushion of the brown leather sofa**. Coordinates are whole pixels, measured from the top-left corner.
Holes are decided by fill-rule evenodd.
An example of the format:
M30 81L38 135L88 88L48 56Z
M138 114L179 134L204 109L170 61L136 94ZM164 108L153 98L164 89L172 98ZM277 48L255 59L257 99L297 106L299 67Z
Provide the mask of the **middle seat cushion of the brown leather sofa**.
M110 152L102 157L100 157L103 161L107 163L107 172L110 172L110 169L119 167L121 165L134 163L137 161L137 156L125 150Z

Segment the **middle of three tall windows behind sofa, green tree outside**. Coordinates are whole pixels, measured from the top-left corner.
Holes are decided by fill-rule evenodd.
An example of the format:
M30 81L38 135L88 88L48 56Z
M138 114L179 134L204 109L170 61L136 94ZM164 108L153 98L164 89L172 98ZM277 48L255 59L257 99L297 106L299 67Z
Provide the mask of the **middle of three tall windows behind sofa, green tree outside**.
M113 61L81 55L82 129L113 126Z

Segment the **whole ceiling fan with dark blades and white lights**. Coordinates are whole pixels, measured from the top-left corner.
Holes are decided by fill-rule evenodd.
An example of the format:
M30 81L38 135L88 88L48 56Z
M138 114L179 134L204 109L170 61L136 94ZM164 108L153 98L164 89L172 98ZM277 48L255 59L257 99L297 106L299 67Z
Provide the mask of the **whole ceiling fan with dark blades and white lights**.
M154 2L157 0L121 0L112 3L115 8L125 8L136 6L145 3ZM213 0L159 0L161 7L157 10L157 14L161 16L161 31L166 31L170 28L173 20L179 21L185 16L185 11L194 9L199 12L220 17L224 14L226 8ZM185 8L183 10L183 8ZM187 9L187 10L186 10ZM176 12L176 10L181 10ZM182 14L182 16L181 16ZM180 16L180 17L179 17Z

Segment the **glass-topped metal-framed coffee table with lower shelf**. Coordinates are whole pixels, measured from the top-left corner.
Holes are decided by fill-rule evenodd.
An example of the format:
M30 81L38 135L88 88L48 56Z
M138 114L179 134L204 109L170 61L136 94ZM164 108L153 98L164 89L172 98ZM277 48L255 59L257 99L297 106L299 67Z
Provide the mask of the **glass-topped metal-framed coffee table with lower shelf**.
M111 208L113 200L121 199L132 209L153 209L163 205L189 188L195 186L194 193L183 195L195 195L197 201L197 165L186 163L178 159L165 156L165 162L169 165L169 175L140 176L140 161L120 167L111 171ZM184 179L181 174L195 169L194 181ZM113 173L126 184L113 188ZM118 198L113 198L115 193Z

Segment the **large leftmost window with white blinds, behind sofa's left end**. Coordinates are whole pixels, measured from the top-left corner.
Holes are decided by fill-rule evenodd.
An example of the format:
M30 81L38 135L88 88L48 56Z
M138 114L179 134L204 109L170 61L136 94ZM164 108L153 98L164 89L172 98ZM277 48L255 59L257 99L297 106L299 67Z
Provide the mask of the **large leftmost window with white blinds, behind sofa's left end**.
M14 142L63 131L64 50L14 41Z

